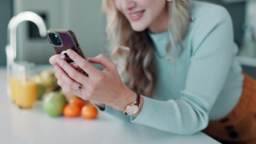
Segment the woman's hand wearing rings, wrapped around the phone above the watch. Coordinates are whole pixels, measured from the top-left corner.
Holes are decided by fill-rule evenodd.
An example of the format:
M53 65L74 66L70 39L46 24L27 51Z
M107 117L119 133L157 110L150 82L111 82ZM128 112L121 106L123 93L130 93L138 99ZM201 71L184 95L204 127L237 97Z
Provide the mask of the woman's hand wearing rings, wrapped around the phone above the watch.
M67 55L89 76L77 71L64 59L58 58L55 66L58 85L64 92L71 92L84 100L94 103L108 104L117 110L124 110L126 104L136 99L135 92L127 88L122 82L114 62L100 54L88 61L100 64L105 70L100 71L93 67L86 59L73 50L67 50ZM82 88L79 89L79 86Z

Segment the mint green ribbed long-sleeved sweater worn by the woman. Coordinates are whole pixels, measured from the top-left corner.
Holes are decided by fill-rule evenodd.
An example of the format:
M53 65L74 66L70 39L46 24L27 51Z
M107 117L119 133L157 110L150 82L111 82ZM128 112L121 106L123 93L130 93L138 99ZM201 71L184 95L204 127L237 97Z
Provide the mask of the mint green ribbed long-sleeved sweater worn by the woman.
M193 134L220 119L236 106L243 75L234 59L233 26L225 8L206 2L190 2L190 23L183 52L175 64L166 55L168 32L150 34L155 47L157 86L153 98L144 97L135 118L106 106L105 112L135 124L177 134Z

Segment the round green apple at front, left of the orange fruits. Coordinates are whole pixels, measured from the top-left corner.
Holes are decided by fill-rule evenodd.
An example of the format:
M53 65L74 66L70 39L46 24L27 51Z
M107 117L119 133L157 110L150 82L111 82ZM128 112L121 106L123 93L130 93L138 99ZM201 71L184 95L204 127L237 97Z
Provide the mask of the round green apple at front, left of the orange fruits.
M49 92L44 98L43 109L49 116L60 116L66 103L66 97L61 92Z

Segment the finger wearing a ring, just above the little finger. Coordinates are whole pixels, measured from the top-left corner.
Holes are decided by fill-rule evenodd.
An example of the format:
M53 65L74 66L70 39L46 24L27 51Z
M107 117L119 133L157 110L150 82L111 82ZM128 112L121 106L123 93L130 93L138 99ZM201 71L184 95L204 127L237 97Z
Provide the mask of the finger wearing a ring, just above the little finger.
M79 86L81 86L80 83L76 82L75 80L71 79L65 71L63 71L58 65L55 67L56 75L58 76L58 80L62 80L69 88L72 89L79 89Z

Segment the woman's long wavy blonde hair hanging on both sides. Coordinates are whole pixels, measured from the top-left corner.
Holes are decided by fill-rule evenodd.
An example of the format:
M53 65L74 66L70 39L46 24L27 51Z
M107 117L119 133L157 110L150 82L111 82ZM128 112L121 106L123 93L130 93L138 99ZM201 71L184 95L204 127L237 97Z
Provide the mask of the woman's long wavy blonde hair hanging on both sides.
M166 5L169 11L170 38L166 52L169 53L172 60L174 58L170 49L176 49L177 44L181 46L189 25L188 5L189 0L173 0L167 2ZM141 32L133 31L129 21L115 8L115 4L111 0L103 0L102 7L107 15L106 34L111 46L111 56L117 62L117 67L121 67L120 74L125 72L123 80L133 91L153 97L157 71L153 61L154 44L147 29Z

